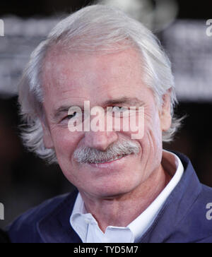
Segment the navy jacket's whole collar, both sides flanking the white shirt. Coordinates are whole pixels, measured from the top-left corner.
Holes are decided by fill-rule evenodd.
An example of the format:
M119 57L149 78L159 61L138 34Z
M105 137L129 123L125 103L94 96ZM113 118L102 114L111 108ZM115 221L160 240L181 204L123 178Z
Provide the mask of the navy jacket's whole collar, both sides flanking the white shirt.
M190 160L180 153L184 175L172 191L153 225L143 235L141 242L163 242L175 231L175 225L189 212L201 192L201 184L196 177ZM37 223L37 231L45 243L81 243L78 234L70 225L70 216L78 191L69 194L52 213Z

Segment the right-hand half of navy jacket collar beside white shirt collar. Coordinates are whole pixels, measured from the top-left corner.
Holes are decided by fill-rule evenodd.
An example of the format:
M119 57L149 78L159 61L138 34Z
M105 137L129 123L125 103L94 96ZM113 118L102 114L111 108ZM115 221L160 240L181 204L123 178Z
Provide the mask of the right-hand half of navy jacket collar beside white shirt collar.
M160 210L153 225L141 238L141 243L163 243L177 230L202 190L191 161L181 153L175 153L182 161L184 175Z

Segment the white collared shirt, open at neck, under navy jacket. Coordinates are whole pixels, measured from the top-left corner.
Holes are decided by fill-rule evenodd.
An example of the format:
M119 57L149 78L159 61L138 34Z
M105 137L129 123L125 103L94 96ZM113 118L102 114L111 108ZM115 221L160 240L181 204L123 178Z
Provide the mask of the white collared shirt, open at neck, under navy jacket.
M83 243L138 243L143 234L153 224L163 204L175 189L184 173L184 167L179 157L163 150L163 166L172 173L172 179L155 201L127 227L109 226L105 234L98 226L93 215L86 212L81 194L78 193L73 212L70 217L71 227L76 231ZM174 169L174 170L173 170Z

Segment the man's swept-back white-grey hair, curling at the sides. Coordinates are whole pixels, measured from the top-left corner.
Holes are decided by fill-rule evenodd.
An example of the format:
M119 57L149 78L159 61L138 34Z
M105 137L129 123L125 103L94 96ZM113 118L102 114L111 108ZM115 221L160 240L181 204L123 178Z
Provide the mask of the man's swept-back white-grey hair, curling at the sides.
M116 52L123 47L137 49L145 74L143 80L153 90L159 107L163 105L163 95L170 90L172 125L163 132L163 141L172 141L181 119L174 116L177 103L175 82L170 60L158 38L119 9L94 5L61 20L30 56L19 84L20 114L25 123L22 128L23 143L30 151L49 163L57 163L54 149L45 148L40 122L43 104L41 75L45 56L53 46L61 46L70 52L90 53Z

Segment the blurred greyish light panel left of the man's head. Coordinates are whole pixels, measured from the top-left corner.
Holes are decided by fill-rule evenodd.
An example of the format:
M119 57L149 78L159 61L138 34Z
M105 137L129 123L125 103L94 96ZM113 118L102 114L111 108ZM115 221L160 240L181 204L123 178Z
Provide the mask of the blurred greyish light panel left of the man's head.
M31 52L58 23L58 18L4 18L4 37L0 37L0 97L18 94L18 81Z

